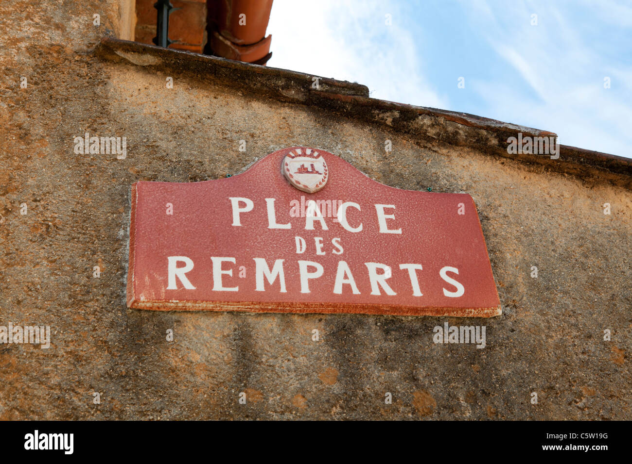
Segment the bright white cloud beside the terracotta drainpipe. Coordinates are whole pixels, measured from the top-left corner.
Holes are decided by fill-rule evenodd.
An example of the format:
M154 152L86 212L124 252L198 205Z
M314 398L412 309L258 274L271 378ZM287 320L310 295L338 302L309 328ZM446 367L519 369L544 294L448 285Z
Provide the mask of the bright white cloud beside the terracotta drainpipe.
M391 26L385 24L387 14ZM446 107L420 74L415 40L398 25L401 18L390 1L275 0L268 26L269 66L357 81L374 98Z

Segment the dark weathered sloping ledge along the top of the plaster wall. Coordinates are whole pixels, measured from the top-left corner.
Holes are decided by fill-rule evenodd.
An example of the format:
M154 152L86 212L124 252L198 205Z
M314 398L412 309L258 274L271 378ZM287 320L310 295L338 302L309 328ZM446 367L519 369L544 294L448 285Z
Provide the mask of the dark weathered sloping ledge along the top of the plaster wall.
M507 138L522 133L533 138L552 137L557 141L557 135L549 131L472 114L370 98L367 86L358 83L111 37L100 41L95 54L109 61L128 61L148 69L189 73L203 81L219 81L227 86L247 88L279 101L319 107L346 117L385 125L429 143L467 146L490 155L543 165L555 172L593 177L632 189L632 160L628 158L566 145L559 146L559 159L550 159L549 155L507 153ZM319 89L312 88L314 77L319 77Z

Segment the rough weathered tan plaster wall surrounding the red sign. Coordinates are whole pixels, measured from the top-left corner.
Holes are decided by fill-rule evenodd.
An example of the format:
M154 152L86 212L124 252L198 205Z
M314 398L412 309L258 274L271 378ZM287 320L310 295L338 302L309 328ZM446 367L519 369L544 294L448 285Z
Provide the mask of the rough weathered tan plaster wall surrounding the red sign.
M631 191L195 76L168 74L170 90L92 54L90 3L32 4L0 4L0 325L50 325L52 345L0 345L0 419L632 419ZM99 5L117 33L118 2ZM126 136L127 158L76 155L85 131ZM215 179L291 145L390 186L470 193L503 315L126 308L133 182ZM487 347L435 345L446 320L484 324Z

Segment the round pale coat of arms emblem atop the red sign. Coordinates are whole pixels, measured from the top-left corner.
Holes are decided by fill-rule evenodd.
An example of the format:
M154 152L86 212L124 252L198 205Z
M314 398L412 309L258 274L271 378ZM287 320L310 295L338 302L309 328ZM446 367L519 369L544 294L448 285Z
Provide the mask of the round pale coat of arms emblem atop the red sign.
M297 189L314 193L327 184L327 163L313 148L293 148L283 158L283 174Z

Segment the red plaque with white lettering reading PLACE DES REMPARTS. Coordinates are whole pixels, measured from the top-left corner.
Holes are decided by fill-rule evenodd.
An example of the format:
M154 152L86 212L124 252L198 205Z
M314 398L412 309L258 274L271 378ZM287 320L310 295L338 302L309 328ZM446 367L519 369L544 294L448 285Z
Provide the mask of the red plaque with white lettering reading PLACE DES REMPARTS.
M501 314L468 194L401 190L323 150L131 189L128 307Z

